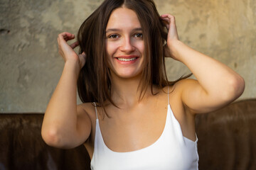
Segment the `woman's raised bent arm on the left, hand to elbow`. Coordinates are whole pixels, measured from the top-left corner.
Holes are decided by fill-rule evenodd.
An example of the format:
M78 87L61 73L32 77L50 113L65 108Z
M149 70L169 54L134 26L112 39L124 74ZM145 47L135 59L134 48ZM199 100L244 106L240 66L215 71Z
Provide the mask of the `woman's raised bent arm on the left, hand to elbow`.
M43 140L53 147L76 147L87 140L91 131L90 117L76 101L78 74L85 64L85 55L74 52L77 42L68 45L67 41L74 38L70 33L58 35L59 52L65 66L48 103L41 131Z

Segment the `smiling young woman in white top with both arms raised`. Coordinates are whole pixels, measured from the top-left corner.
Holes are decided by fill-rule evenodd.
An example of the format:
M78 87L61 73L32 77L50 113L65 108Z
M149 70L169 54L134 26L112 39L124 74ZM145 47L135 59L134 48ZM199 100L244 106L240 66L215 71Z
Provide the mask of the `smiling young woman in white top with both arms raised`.
M105 0L68 45L74 38L58 35L65 66L43 140L84 144L92 169L198 169L195 115L238 98L242 77L178 40L174 16L159 16L151 0ZM169 82L165 57L186 64L196 80Z

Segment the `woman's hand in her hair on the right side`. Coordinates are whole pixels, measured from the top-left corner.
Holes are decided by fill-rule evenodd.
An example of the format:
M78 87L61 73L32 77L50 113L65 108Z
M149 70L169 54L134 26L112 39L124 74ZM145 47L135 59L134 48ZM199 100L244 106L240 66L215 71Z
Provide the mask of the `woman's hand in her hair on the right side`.
M167 42L166 42L166 45L164 46L164 50L165 50L164 53L166 57L172 57L174 60L178 60L178 58L175 57L176 50L174 48L174 44L176 42L179 42L175 18L170 14L163 14L161 15L161 19L163 20L168 30Z

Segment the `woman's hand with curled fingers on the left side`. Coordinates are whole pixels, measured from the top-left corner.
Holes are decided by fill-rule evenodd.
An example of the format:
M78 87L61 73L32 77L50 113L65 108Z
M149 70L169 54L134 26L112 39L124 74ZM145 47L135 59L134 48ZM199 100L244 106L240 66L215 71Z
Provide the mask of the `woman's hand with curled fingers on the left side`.
M82 52L81 55L78 55L74 48L78 47L78 42L73 42L73 44L68 45L69 40L73 40L75 35L68 32L63 32L58 35L58 52L63 57L65 63L67 62L75 62L78 63L80 68L85 65L85 52Z

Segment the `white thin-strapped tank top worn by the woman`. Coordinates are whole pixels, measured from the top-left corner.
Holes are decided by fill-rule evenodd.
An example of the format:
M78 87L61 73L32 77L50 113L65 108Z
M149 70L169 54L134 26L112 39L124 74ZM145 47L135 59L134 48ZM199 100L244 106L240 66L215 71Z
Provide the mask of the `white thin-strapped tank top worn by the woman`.
M169 96L169 95L167 95ZM169 103L169 97L168 97ZM96 115L97 108L95 107ZM114 152L103 140L96 119L95 145L91 160L92 170L188 170L198 169L197 141L183 137L181 125L168 104L164 131L156 142L132 152Z

